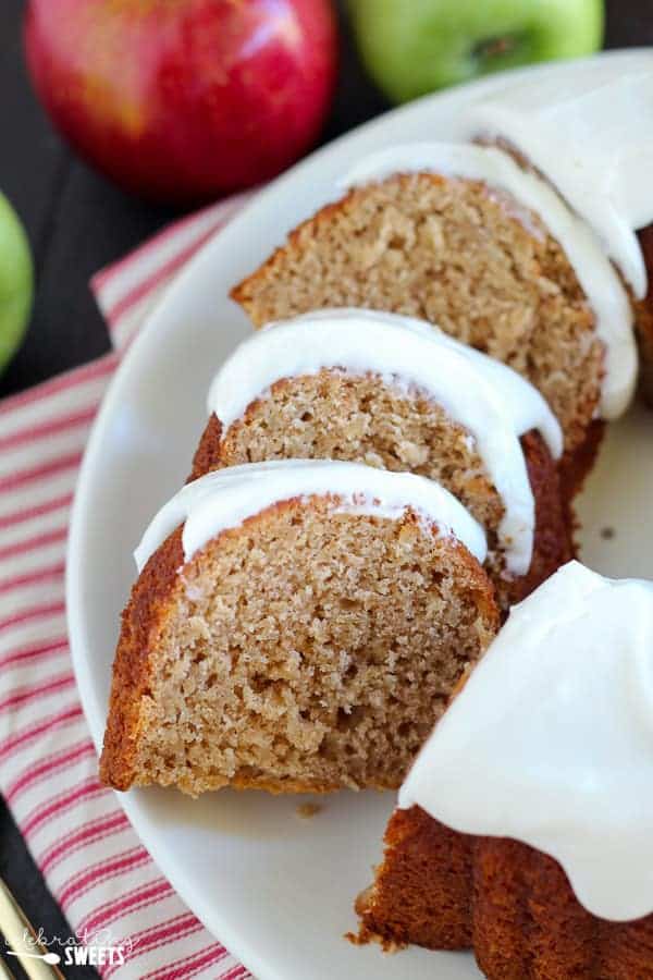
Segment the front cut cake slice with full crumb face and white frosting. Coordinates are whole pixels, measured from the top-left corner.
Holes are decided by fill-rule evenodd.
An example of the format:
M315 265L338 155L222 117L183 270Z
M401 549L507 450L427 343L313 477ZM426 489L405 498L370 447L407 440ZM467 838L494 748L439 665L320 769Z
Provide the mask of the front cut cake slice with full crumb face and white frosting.
M100 763L118 789L397 787L497 629L481 527L412 474L210 473L135 554Z

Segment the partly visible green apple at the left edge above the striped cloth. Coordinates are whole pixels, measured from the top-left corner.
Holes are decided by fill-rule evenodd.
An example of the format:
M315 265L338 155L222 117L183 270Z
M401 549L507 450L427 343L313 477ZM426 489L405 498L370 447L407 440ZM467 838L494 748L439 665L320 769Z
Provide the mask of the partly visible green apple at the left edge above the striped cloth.
M32 309L34 271L19 216L0 194L0 370L15 353Z

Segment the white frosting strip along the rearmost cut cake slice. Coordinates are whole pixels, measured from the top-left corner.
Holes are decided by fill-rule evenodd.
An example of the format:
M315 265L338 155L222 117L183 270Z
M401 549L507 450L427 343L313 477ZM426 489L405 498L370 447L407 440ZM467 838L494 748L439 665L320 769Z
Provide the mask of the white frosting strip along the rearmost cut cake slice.
M603 418L621 415L632 399L638 355L628 294L592 231L556 192L495 147L452 143L415 143L366 157L343 180L344 186L380 181L393 173L436 172L483 181L507 192L540 217L560 244L596 318L596 333L605 346Z

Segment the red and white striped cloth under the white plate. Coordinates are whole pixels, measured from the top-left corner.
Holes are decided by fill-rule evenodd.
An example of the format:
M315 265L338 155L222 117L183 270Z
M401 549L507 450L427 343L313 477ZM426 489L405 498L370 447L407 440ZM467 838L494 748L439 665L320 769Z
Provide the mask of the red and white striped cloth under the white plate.
M100 272L91 286L112 353L0 403L0 792L75 934L123 944L123 965L99 967L114 980L249 976L184 906L99 784L64 608L78 466L121 353L171 278L247 197L182 220Z

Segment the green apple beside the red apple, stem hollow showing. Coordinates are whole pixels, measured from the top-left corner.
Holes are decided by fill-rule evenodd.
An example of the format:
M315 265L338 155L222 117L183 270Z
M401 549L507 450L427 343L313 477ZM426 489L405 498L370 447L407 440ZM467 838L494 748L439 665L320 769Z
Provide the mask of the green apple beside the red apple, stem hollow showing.
M578 58L603 41L603 0L348 0L366 66L394 101L490 72Z

